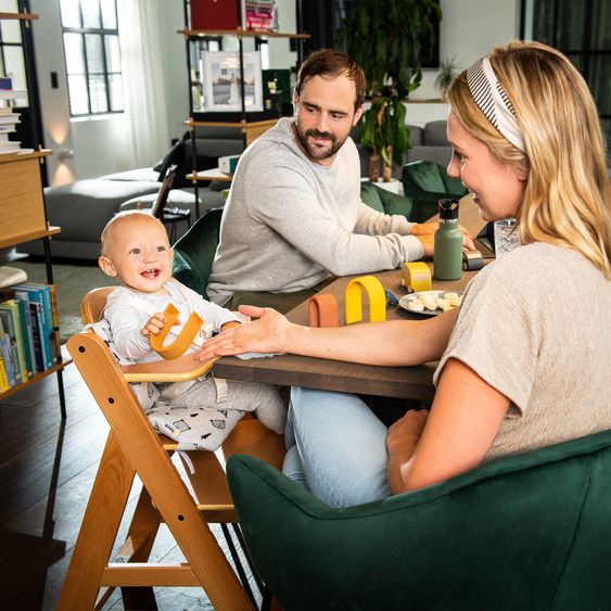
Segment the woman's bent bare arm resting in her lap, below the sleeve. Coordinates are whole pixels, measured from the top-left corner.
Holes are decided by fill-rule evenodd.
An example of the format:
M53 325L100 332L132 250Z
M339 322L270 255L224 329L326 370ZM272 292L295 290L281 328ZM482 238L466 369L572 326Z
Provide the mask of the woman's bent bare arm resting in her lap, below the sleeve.
M389 431L392 493L430 486L475 468L508 407L509 399L471 368L448 359L428 418L410 411Z

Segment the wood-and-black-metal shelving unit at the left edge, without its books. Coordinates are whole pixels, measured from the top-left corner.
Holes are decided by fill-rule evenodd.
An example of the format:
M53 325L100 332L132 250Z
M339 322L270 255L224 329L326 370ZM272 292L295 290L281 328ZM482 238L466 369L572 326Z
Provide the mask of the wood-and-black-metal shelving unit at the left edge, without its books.
M28 96L37 91L35 82L35 69L31 65L34 59L30 22L38 15L22 11L18 13L0 12L0 20L18 20L21 26L22 44L24 50L25 76ZM35 104L30 100L30 113L35 113ZM36 120L31 117L33 141L39 142L35 129ZM61 231L59 227L51 227L47 220L44 209L44 194L42 190L42 165L44 157L52 151L44 150L40 145L38 150L22 153L5 153L0 155L0 184L2 184L2 198L0 198L0 249L16 246L31 240L42 240L44 247L44 263L47 268L47 283L53 287L53 268L51 264L50 239ZM7 291L10 288L4 289ZM56 316L54 317L56 321ZM24 389L36 384L40 380L55 374L58 378L60 409L62 418L66 417L65 393L62 371L67 364L62 359L60 349L59 327L53 323L55 341L51 342L52 364L43 371L33 371L31 377L25 382L18 382L3 393L0 399L4 399ZM34 355L30 355L34 360ZM34 369L34 368L33 368Z

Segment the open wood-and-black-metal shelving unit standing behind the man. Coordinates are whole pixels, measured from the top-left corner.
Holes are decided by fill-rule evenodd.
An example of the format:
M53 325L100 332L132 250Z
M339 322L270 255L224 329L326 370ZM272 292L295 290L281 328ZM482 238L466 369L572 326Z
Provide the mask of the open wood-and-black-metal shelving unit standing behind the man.
M310 38L309 34L302 33L282 33L269 29L246 29L242 27L243 15L238 11L238 25L233 29L194 29L191 28L191 14L190 4L194 0L184 0L184 29L179 29L178 34L184 38L186 42L186 54L187 54L187 71L189 75L189 119L183 122L183 125L190 131L191 135L191 145L192 145L192 160L193 160L193 171L188 175L188 179L192 181L193 188L195 190L195 200L198 200L198 182L209 181L209 178L202 173L198 173L196 166L196 138L195 132L198 128L206 127L224 127L239 129L242 133L244 148L256 140L262 133L270 129L276 125L280 118L280 113L276 110L267 110L264 107L263 111L247 111L245 103L245 86L244 86L244 52L243 41L244 39L253 38L255 40L267 40L269 38L284 38L292 40L295 43L295 51L297 53L297 65L303 60L303 42ZM243 1L243 0L242 0ZM295 4L295 10L297 14L301 14L300 0ZM298 23L298 22L297 22ZM232 112L212 112L212 111L196 111L194 109L193 101L193 61L191 46L201 43L204 40L220 40L221 37L233 37L238 40L238 56L239 56L239 74L240 74L240 87L239 87L239 110ZM255 46L256 49L256 46ZM259 66L260 72L260 66ZM208 75L209 77L209 75ZM206 75L203 71L200 72L199 80L201 84L205 84Z

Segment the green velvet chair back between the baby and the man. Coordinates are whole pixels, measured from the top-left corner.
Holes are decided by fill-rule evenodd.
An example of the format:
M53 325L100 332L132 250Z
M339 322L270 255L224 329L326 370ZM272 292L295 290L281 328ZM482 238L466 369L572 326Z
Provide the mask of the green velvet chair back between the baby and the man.
M219 240L222 208L204 213L182 238L174 244L174 277L208 298L206 287Z

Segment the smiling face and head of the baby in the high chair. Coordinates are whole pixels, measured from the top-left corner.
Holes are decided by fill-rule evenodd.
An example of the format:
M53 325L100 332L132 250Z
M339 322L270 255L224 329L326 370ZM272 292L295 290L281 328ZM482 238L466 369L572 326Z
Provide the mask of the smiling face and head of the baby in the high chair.
M124 287L157 293L171 278L173 256L163 225L142 217L126 218L113 228L106 256L102 257L110 266L102 269Z

